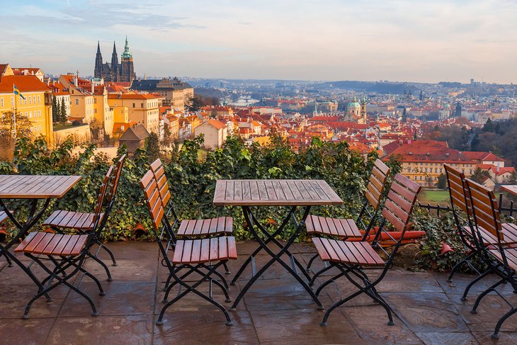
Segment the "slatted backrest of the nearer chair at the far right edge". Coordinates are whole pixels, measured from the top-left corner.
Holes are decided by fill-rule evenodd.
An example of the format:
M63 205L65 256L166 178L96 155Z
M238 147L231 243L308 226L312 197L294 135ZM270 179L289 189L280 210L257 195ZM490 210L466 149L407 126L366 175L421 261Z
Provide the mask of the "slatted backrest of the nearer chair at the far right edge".
M497 239L503 239L499 206L494 192L470 179L465 179L465 182L470 194L475 225L487 230Z

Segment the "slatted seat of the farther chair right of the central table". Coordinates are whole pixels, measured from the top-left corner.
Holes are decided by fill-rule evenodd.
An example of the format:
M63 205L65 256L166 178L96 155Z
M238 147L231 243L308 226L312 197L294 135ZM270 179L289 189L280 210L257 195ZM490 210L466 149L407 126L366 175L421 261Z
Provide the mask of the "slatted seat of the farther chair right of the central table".
M305 220L305 227L307 228L307 234L325 234L339 239L363 237L356 222L351 219L309 215Z

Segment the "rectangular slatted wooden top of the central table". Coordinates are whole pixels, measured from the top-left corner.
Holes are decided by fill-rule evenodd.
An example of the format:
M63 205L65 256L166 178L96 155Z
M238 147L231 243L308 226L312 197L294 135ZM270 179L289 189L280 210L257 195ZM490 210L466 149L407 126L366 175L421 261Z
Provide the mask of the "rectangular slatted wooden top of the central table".
M217 206L341 205L324 180L217 180Z

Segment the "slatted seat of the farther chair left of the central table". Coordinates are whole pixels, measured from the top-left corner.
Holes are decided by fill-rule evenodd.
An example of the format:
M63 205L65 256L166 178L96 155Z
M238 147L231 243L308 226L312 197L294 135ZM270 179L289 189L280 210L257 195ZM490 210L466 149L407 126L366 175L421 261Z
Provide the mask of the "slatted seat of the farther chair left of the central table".
M203 236L206 234L232 234L233 218L218 217L211 219L182 220L176 236Z

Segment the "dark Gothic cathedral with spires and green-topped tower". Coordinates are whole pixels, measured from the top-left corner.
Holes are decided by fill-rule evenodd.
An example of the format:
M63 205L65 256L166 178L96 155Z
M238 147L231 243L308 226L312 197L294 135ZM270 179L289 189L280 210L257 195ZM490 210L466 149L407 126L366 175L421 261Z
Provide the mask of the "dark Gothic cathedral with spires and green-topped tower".
M113 54L111 55L111 63L102 61L101 46L97 43L97 55L95 57L95 70L93 72L94 78L102 78L104 81L125 81L131 83L136 79L135 67L133 67L133 57L129 50L127 43L127 36L125 38L124 52L120 57L120 64L118 63L117 48L113 42Z

